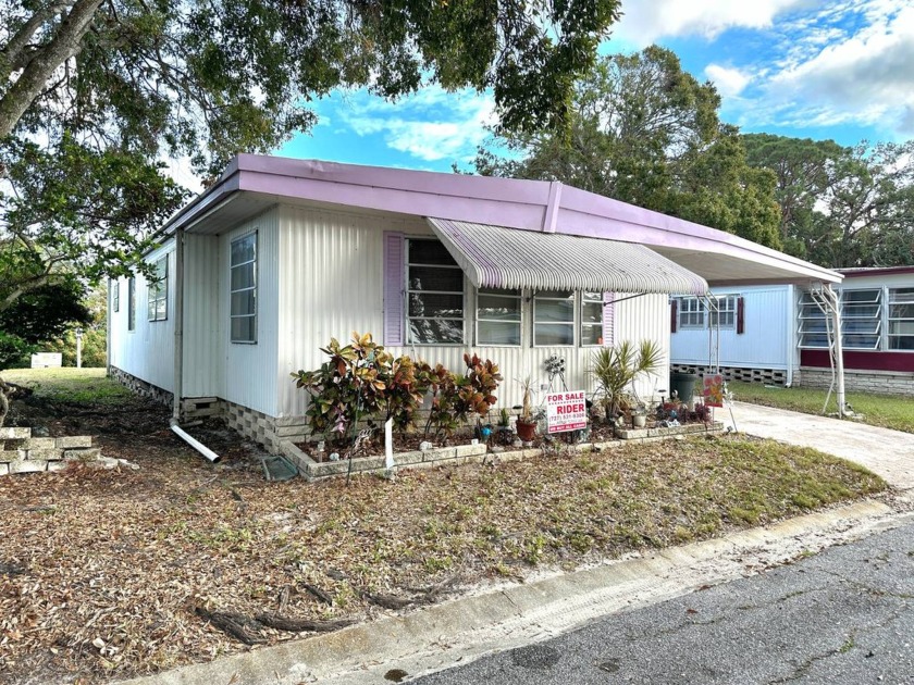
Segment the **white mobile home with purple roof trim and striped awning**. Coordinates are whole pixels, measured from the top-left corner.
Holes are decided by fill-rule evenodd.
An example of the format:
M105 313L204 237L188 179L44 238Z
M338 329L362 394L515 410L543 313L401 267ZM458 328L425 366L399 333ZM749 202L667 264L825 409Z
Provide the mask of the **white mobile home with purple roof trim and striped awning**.
M273 450L304 437L289 373L319 366L331 337L372 333L455 371L472 349L502 368L510 407L552 356L569 388L591 387L600 346L651 338L668 358L670 294L841 278L559 183L248 154L162 235L158 282L112 284L112 374Z

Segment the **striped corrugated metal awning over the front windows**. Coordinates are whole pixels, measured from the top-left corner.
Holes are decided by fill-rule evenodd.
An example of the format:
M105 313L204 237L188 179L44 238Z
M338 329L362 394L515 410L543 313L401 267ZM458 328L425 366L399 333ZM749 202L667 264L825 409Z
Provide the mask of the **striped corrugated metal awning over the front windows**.
M478 288L704 295L707 282L643 245L428 219Z

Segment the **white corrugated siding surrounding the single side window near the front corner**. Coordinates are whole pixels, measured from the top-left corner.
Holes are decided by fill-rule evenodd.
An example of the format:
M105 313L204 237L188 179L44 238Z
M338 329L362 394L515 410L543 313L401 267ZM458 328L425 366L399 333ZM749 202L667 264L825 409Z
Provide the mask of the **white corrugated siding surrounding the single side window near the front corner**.
M228 284L232 240L252 231L257 231L257 342L250 345L228 340ZM219 236L219 336L224 349L219 363L225 375L220 397L271 416L277 413L274 370L279 347L279 265L277 208Z

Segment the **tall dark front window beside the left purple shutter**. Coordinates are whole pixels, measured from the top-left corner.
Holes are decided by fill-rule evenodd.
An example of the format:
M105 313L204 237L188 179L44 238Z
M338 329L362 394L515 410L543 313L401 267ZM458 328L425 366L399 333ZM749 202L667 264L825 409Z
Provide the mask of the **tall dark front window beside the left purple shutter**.
M464 341L464 272L437 240L407 241L408 342ZM494 334L494 333L493 333Z

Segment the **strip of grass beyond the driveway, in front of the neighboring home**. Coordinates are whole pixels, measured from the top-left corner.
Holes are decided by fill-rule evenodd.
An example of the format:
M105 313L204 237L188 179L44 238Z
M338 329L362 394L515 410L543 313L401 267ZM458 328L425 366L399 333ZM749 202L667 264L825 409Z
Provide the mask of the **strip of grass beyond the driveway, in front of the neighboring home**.
M761 383L728 382L733 399L765 407L790 409L806 414L822 414L827 389L818 388L773 388ZM882 426L905 433L914 433L914 399L899 395L873 395L848 393L848 403L854 412L862 414L862 421L873 426ZM828 411L836 410L835 393L831 394Z

